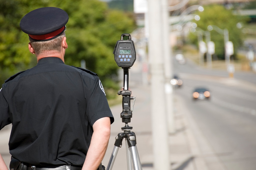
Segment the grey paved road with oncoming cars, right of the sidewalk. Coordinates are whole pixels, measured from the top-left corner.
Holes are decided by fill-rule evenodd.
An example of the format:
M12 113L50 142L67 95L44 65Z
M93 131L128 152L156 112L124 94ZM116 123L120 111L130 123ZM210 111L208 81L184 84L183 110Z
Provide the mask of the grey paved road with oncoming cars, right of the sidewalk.
M193 63L175 64L175 70L184 82L176 95L184 99L225 169L256 169L256 74L237 72L232 79L225 71L204 70ZM191 100L197 86L211 90L210 101Z

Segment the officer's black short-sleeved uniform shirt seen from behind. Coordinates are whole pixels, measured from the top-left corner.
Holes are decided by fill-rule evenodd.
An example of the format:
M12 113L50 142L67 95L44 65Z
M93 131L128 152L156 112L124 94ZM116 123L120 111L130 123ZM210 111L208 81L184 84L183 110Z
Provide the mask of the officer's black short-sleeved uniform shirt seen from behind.
M10 154L22 162L82 166L102 117L114 121L99 77L56 57L10 77L0 91L0 129L12 123Z

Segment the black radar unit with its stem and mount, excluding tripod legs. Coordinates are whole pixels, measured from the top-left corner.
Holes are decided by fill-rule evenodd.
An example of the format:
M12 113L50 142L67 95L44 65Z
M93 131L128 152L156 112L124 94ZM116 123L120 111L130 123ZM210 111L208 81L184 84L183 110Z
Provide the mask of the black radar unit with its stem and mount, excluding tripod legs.
M128 37L128 40L124 40L124 37ZM123 96L121 118L125 127L122 127L122 130L129 130L132 129L128 126L132 118L131 99L134 99L131 97L132 91L129 90L129 69L136 60L135 46L130 34L121 35L121 40L116 42L113 54L117 65L124 71L123 90L118 91L118 95Z

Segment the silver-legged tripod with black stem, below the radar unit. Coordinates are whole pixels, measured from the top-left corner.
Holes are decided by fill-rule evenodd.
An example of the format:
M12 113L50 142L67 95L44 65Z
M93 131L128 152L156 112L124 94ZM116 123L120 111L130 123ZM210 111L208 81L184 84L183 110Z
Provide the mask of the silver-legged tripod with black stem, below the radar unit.
M138 150L136 147L136 136L134 132L131 132L132 127L128 125L131 122L132 110L131 108L131 99L135 99L131 97L132 92L128 89L129 82L129 69L130 67L123 67L124 70L124 86L122 91L118 91L118 95L122 95L122 107L123 111L121 113L122 122L125 123L125 126L121 129L124 131L119 133L115 137L114 149L112 151L108 166L106 170L111 170L116 155L118 153L119 148L122 147L122 141L125 139L126 143L126 159L127 159L127 169L128 170L142 170ZM133 166L132 166L133 165Z

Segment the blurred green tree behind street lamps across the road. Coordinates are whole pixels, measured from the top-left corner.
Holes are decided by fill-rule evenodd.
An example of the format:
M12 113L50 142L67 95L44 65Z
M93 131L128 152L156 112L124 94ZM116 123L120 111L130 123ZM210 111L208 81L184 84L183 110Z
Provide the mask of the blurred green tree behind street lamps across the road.
M237 23L246 21L246 18L241 18L232 14L231 10L225 9L221 5L210 5L204 7L204 11L197 13L200 16L199 21L194 21L197 24L196 30L208 31L208 25L216 25L221 30L229 31L229 41L234 45L234 58L237 54L237 49L242 45L242 32L237 28ZM197 32L200 33L200 32ZM211 41L215 43L215 55L219 59L225 59L224 35L217 32L216 29L210 31ZM193 43L197 43L197 37L190 34L190 39ZM205 40L204 40L205 41Z

